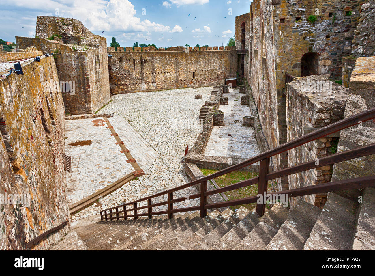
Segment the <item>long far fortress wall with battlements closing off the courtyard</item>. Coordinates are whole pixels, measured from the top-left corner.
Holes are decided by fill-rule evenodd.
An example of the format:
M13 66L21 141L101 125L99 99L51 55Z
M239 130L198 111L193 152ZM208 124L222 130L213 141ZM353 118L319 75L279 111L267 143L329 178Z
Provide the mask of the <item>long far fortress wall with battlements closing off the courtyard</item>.
M215 86L225 77L236 77L236 50L109 54L110 88L115 94Z

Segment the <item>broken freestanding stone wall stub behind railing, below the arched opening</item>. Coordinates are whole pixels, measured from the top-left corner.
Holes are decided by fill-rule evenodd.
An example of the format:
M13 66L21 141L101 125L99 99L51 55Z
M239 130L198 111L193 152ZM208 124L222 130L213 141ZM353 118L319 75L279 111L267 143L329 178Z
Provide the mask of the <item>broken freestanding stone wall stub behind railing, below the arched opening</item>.
M326 76L297 78L287 84L288 142L306 134L306 128L321 128L344 118L348 89ZM310 87L310 88L308 88ZM295 166L336 153L337 137L324 137L288 151L288 166ZM289 176L289 189L329 182L332 166L322 166ZM290 199L293 208L300 199L323 207L327 194Z

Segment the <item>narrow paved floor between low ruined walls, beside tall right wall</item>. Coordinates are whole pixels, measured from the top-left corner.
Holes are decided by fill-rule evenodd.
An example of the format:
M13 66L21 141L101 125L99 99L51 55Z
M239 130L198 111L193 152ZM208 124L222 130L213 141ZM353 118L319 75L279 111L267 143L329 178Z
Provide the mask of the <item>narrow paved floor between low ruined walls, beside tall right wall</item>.
M239 88L231 88L223 95L228 97L228 104L219 109L224 112L225 125L213 127L204 155L251 158L260 154L254 128L242 126L242 117L251 116L249 106L241 105L243 95Z

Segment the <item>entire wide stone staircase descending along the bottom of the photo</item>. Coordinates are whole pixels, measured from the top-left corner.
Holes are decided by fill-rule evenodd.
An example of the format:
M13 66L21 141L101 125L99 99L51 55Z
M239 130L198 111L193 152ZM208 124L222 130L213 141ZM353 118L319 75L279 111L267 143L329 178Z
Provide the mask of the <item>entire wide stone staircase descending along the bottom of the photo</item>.
M74 229L91 250L350 250L375 249L375 189L363 203L330 193L321 210L299 201L293 211L277 203L263 216L241 207L102 221Z

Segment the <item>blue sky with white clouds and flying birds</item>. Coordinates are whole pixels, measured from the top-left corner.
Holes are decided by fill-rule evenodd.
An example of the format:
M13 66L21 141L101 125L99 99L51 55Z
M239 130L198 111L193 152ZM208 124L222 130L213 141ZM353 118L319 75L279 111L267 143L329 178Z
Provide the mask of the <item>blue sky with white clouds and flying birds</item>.
M221 46L234 35L235 17L252 0L1 0L0 38L34 36L38 15L76 18L93 33L115 36L122 47L134 42L175 47Z

